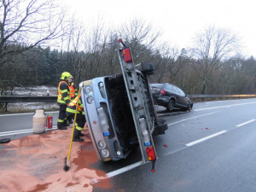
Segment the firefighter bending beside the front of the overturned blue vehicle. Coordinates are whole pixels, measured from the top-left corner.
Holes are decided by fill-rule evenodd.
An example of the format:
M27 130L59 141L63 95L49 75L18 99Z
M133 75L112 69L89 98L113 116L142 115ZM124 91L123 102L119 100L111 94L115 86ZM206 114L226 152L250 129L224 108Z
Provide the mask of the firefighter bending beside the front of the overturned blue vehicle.
M78 106L77 111L77 119L75 122L75 130L73 133L73 142L83 142L84 139L80 138L81 136L84 136L81 131L84 129L84 124L86 122L85 116L84 116L84 108L83 103L81 102L81 96L76 96L76 98L73 100L73 102L70 102L67 106L67 115L74 117L76 113L76 107Z

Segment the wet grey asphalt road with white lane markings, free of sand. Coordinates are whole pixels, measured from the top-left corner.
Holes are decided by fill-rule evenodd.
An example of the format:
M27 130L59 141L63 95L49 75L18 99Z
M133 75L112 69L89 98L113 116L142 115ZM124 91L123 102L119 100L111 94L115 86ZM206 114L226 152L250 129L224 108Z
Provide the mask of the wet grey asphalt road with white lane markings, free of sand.
M32 129L32 114L26 115L0 115L0 138L21 125ZM163 117L169 129L154 137L156 172L141 165L138 149L126 160L97 162L91 166L106 172L114 188L96 185L95 192L256 191L256 99L195 103L190 113Z

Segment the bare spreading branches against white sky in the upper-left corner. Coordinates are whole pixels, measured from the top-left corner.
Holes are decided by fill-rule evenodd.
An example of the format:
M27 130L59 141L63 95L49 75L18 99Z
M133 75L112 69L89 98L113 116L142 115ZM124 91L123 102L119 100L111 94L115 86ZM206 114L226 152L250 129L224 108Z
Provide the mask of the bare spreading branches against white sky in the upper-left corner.
M59 38L64 15L54 0L1 0L0 57Z

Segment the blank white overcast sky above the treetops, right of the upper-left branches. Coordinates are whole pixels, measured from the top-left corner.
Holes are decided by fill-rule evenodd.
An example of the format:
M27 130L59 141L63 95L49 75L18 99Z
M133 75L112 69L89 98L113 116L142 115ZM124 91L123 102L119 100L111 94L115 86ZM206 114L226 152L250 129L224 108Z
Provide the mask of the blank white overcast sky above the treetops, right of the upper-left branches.
M64 0L85 24L100 15L105 25L142 19L162 30L162 38L178 48L191 45L207 26L225 27L238 35L241 54L256 58L256 0Z

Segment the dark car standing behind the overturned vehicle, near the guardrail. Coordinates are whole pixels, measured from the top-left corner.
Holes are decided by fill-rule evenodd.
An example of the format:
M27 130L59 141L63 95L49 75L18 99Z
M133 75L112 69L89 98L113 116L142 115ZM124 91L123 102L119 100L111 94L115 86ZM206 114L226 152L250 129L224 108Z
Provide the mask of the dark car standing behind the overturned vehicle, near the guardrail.
M174 108L190 111L193 107L183 90L173 84L151 84L151 89L155 104L166 107L168 111Z

